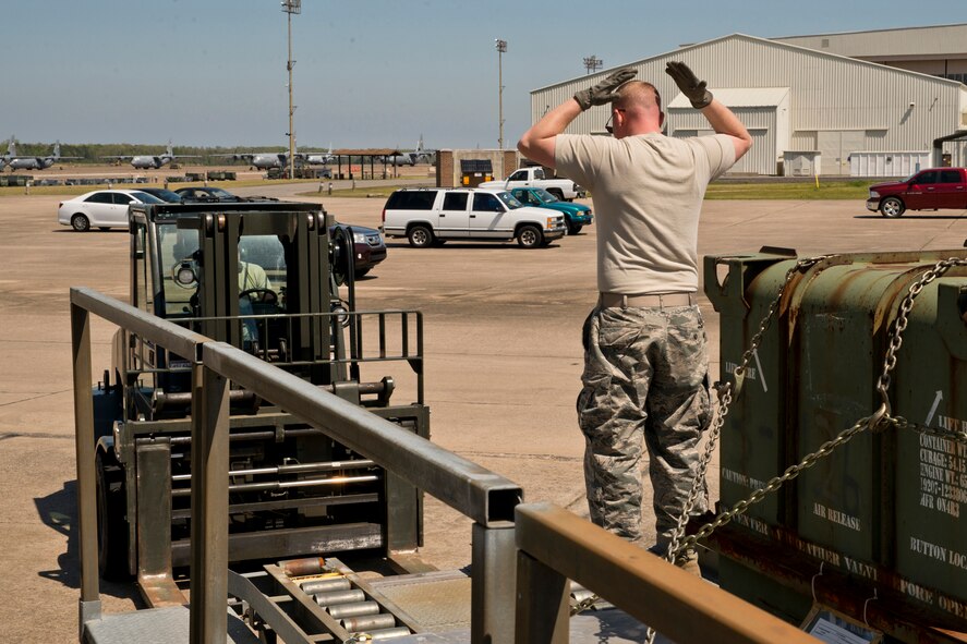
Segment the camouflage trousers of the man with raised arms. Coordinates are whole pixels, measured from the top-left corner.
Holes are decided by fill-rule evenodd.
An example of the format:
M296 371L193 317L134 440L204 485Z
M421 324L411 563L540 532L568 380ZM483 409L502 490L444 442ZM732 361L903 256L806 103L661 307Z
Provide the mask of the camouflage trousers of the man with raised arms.
M712 416L702 314L698 306L599 307L584 323L583 341L578 422L591 520L648 545L641 543L644 442L657 543L665 546L688 499L699 439ZM706 509L708 488L703 491L694 513Z

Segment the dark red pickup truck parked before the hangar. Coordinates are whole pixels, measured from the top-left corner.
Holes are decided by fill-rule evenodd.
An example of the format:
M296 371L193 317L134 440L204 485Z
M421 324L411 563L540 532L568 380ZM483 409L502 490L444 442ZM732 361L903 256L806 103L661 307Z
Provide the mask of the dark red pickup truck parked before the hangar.
M899 217L906 210L967 209L967 170L931 168L909 179L870 186L867 210Z

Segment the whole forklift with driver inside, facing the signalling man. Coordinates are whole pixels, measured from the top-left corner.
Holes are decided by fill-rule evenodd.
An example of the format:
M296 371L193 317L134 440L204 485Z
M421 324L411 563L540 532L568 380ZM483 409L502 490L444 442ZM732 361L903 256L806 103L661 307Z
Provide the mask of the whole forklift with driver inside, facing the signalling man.
M134 205L130 258L133 307L430 437L419 313L356 311L352 230L319 205ZM390 403L397 381L377 370L392 361L413 391L404 404ZM94 391L99 570L135 575L150 606L180 600L172 571L190 562L191 369L120 328ZM422 545L419 489L232 387L230 561L392 558Z

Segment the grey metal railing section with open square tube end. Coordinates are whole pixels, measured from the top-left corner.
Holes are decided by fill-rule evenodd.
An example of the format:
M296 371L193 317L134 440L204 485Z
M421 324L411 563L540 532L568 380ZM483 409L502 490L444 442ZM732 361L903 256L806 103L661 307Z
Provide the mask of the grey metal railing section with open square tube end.
M227 632L229 382L235 382L376 461L474 520L473 642L509 642L513 579L512 482L292 374L89 289L71 289L77 498L81 533L81 635L101 617L98 586L90 314L192 363L191 641L223 642Z

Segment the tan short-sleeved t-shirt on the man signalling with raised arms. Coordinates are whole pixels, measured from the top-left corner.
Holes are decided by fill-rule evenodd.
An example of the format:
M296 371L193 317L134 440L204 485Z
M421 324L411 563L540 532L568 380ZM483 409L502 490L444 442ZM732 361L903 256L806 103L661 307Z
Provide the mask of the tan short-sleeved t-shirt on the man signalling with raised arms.
M555 161L592 193L600 291L698 290L699 215L709 182L735 163L728 136L561 134Z

